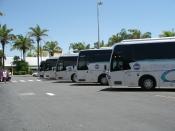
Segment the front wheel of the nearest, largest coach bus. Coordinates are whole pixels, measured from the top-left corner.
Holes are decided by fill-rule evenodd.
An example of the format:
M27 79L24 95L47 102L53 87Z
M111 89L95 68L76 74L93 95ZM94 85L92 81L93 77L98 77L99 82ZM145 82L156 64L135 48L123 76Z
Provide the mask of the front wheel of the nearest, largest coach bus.
M139 85L143 90L154 90L156 87L156 80L150 75L145 75L139 80Z

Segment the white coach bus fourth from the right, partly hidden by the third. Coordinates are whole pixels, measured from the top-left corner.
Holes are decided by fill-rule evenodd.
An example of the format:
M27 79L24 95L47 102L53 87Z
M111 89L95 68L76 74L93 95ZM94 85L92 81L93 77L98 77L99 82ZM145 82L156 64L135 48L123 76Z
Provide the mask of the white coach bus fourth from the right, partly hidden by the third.
M56 66L58 57L49 58L45 61L44 78L55 79L54 67Z

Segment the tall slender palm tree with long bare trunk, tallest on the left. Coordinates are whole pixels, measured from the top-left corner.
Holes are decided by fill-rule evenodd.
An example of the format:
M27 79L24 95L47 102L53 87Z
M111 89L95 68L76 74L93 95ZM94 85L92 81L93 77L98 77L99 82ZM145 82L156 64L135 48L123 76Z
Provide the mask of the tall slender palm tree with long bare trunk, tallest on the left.
M41 29L39 25L36 25L36 27L30 27L29 28L31 30L31 32L29 32L29 35L31 37L35 37L36 38L36 42L37 42L37 64L38 64L38 70L39 70L39 43L42 40L41 37L43 36L48 36L46 34L46 32L48 32L48 30L46 29Z

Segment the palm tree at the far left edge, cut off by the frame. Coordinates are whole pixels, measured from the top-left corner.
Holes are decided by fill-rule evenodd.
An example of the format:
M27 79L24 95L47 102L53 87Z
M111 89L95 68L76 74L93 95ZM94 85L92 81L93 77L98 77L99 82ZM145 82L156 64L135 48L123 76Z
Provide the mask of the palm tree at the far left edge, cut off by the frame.
M5 45L9 43L10 40L13 40L15 37L13 34L10 34L13 31L13 29L8 29L7 25L0 25L0 41L2 44L2 52L3 52L3 58L2 58L2 66L4 69L4 56L5 56Z

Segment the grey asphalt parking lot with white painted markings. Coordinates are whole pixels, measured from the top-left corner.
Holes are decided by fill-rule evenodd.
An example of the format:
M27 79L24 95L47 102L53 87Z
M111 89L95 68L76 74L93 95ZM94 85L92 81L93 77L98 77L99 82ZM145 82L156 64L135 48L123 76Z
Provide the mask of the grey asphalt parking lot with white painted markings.
M0 131L174 131L175 88L145 92L13 77L0 83Z

